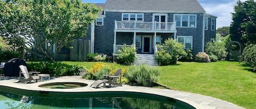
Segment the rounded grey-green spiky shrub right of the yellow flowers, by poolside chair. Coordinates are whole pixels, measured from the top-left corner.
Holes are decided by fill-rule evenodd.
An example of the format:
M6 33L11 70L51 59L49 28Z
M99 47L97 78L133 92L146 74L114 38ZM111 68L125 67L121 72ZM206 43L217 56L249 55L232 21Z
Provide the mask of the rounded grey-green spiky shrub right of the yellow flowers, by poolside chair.
M157 82L159 69L157 67L141 64L140 66L130 66L127 71L129 83L139 86L153 86Z

